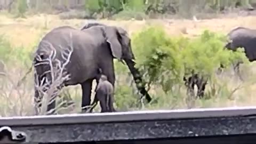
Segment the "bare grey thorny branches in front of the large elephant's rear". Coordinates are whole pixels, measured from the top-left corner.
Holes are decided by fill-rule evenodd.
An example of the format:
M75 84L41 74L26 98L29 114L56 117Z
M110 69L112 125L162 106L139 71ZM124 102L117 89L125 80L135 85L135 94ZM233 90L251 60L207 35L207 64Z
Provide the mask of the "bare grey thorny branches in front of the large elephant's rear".
M72 35L70 33L70 39ZM46 59L42 59L37 55L37 60L39 62L35 63L35 68L42 65L48 65L50 70L44 71L42 75L50 74L51 78L43 77L41 82L37 82L35 84L35 89L39 92L39 101L42 104L42 109L39 112L39 115L49 114L52 111L58 111L59 106L55 107L55 109L51 109L47 111L47 106L50 105L52 102L55 102L55 98L57 97L58 93L60 92L61 88L64 86L64 83L70 79L70 74L67 73L66 67L70 62L71 54L73 53L74 47L73 42L71 41L67 47L62 47L59 45L58 49L55 49L53 45L49 42L45 42L50 47L50 55ZM45 52L49 52L49 49L45 49ZM60 52L61 57L57 57L57 52ZM41 75L41 76L42 76ZM40 76L36 73L36 79ZM63 105L63 103L60 103Z

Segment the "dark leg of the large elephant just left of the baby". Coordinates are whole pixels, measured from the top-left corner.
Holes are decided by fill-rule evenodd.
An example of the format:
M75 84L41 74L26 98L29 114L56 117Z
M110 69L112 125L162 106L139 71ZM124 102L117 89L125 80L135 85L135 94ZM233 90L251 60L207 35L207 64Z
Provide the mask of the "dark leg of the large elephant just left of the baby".
M93 79L87 79L82 86L82 113L85 113L91 105L91 94L92 94L92 81Z

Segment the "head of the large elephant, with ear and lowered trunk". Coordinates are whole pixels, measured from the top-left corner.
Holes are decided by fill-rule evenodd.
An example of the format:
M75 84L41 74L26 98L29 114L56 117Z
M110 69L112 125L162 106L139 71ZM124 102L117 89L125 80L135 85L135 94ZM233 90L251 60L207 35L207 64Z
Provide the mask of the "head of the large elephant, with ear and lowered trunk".
M147 101L150 102L151 97L147 93L145 85L142 84L142 76L139 73L139 70L135 68L135 57L131 48L131 39L128 36L127 31L121 27L107 26L97 22L87 23L87 25L85 25L81 30L89 29L94 26L103 27L102 35L105 36L113 57L120 61L125 61L131 71L134 82L137 85L137 89L146 97Z

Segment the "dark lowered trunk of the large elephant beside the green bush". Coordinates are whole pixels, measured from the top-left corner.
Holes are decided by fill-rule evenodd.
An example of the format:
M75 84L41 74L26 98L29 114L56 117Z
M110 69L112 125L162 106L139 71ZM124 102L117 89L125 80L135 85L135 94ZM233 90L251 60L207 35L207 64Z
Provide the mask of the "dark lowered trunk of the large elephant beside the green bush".
M142 83L142 76L140 75L139 70L135 68L135 62L131 59L124 59L124 61L128 66L129 70L131 71L137 89L143 96L146 97L146 100L150 102L152 98L146 91L145 84Z

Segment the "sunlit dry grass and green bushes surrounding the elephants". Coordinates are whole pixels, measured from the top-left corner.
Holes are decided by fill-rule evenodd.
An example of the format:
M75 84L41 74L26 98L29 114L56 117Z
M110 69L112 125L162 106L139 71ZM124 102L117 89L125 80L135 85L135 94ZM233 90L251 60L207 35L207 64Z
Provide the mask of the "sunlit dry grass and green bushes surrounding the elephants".
M69 25L81 28L86 22L81 18L67 18L68 12L60 14L37 12L35 14L35 10L27 6L26 1L18 2L13 5L14 8L10 12L0 13L0 59L4 63L3 67L0 65L1 116L34 114L33 73L29 73L26 81L19 86L17 84L31 67L33 52L42 36L58 26ZM130 7L134 9L124 10L125 6L129 7L129 3L126 5L121 3L120 11L122 12L113 14L113 17L118 19L109 20L108 18L97 21L107 25L121 26L129 32L137 67L143 74L143 84L146 85L153 100L146 103L143 98L140 98L128 68L115 60L115 107L117 110L253 105L256 99L253 95L254 63L249 63L243 49L231 52L223 49L223 46L227 42L226 34L229 30L236 26L253 28L256 20L254 17L174 20L161 16L161 19L151 19L146 11L141 11L139 1L131 2L134 3L130 3ZM100 4L89 3L94 6L87 9L92 15L99 14L104 10ZM145 6L143 3L141 5ZM145 17L134 20L129 16L129 14L134 16L133 13L139 13ZM79 13L75 13L77 14ZM244 62L241 65L244 81L240 81L234 74L231 64L237 60ZM218 71L220 63L226 66L222 73ZM192 70L208 79L203 99L196 99L187 93L183 76L184 74L189 76ZM63 107L59 114L81 111L82 94L79 85L65 87L60 95L63 97L58 98L58 103ZM67 100L67 97L70 97L75 105L65 106L63 100Z

